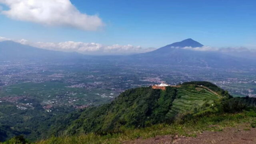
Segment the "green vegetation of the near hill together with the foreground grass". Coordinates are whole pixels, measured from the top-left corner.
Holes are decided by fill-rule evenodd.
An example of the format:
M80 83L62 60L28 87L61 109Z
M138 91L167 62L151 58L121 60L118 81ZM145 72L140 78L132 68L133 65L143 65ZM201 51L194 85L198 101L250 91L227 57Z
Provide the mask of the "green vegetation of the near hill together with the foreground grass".
M52 118L43 135L48 139L37 143L119 144L157 135L196 136L213 124L219 125L213 128L217 131L244 122L256 127L255 105L254 98L232 98L209 82L186 82L166 90L134 88L109 104Z

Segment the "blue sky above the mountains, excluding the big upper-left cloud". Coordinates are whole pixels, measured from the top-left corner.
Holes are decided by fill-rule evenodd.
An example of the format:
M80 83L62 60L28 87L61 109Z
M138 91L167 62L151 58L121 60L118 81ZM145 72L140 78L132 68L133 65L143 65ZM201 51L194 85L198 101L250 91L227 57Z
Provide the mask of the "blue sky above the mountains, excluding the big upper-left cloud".
M1 2L1 0L0 0ZM46 26L0 15L0 36L33 42L95 42L159 48L193 38L207 46L256 47L255 0L71 0L98 30ZM2 4L4 6L4 4ZM8 10L4 6L3 9Z

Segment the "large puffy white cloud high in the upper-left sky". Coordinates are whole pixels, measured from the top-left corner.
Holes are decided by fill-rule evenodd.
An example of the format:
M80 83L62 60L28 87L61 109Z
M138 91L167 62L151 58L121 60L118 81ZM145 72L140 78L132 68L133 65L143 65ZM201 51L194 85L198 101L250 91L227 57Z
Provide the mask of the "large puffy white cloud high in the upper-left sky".
M70 0L0 0L0 3L10 8L1 14L15 20L82 30L97 30L104 26L97 15L82 14Z

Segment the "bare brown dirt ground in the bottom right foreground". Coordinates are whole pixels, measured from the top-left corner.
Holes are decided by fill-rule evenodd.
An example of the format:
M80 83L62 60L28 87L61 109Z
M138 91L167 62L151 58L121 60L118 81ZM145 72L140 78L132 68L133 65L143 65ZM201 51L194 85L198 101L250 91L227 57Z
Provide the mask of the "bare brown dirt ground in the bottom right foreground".
M256 128L226 128L221 132L205 131L196 138L171 135L139 138L123 144L256 144Z

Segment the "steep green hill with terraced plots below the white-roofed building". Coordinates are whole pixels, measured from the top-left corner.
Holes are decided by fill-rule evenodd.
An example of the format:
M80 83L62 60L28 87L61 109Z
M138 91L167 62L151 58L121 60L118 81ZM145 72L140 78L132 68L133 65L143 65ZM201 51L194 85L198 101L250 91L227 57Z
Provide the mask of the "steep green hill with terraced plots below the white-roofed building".
M61 127L60 130L66 129L66 134L102 134L120 132L125 128L171 123L214 111L216 101L229 97L227 92L208 82L168 86L166 90L135 88L126 90L110 104L85 110L67 128ZM55 126L52 129L56 131Z

